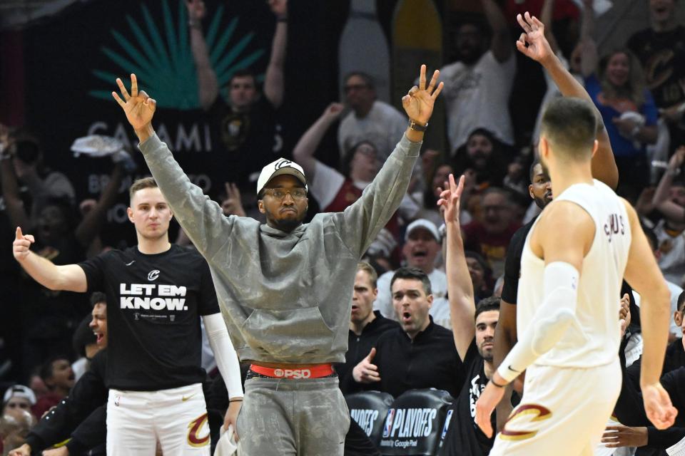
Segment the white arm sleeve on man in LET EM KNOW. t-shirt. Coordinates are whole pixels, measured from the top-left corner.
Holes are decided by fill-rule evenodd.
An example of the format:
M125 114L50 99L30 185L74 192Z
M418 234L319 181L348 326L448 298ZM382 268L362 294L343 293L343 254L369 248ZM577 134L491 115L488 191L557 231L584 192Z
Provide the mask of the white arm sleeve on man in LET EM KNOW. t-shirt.
M233 343L228 336L226 323L221 314L203 315L203 323L214 352L214 359L228 390L228 398L243 397L243 383L240 380L240 365Z

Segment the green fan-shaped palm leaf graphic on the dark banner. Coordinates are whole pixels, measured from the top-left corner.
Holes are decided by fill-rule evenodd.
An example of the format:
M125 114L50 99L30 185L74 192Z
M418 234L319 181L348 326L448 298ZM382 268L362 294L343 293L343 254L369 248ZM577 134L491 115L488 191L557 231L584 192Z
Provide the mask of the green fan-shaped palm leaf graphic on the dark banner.
M205 33L210 63L220 86L225 86L235 71L250 67L265 54L264 48L255 48L254 32L235 36L238 17L230 18L225 24L224 11L224 6L220 5ZM137 18L127 15L126 23L128 28L125 31L112 29L113 42L100 48L111 65L106 70L91 71L98 81L106 84L106 88L94 88L88 91L88 95L111 101L114 80L121 77L126 83L127 76L136 73L141 90L153 96L161 108L199 108L185 0L178 1L176 15L169 6L169 0L162 0L161 18L156 19L146 4L142 4ZM258 75L258 81L262 80L263 74ZM221 93L227 94L225 87Z

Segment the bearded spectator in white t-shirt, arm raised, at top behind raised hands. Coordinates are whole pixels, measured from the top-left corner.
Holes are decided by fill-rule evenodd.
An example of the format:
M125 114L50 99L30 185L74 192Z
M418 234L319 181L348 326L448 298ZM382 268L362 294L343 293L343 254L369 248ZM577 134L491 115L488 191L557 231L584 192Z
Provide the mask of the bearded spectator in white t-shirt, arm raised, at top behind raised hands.
M445 81L447 136L452 153L462 146L476 128L487 128L498 140L514 144L514 129L509 116L516 58L509 41L509 27L494 0L481 4L492 38L489 42L484 24L465 22L457 28L457 62L440 68Z

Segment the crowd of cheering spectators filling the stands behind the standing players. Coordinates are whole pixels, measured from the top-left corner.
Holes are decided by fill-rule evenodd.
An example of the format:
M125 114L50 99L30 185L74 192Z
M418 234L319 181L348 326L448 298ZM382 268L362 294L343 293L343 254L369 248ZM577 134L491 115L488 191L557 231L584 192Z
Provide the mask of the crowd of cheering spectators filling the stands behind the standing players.
M671 290L674 321L664 386L671 398L679 398L679 376L685 371L685 27L676 20L678 2L650 0L651 25L631 36L625 46L599 55L594 43L593 1L584 0L576 15L577 42L568 59L552 27L558 2L538 2L541 9L532 12L549 24L546 37L552 50L597 106L619 172L618 182L609 183L635 205ZM207 163L207 167L220 167L228 173L225 193L217 202L227 215L260 219L256 177L274 158L274 111L288 90L283 82L287 2L269 2L276 27L263 88L258 88L255 73L238 71L228 82L228 99L221 95L223 88L204 42L202 27L208 11L201 0L186 3L199 99L213 125L213 147L228 152L220 155L225 162ZM537 129L531 143L517 143L521 135L514 127L518 123L512 122L507 108L512 90L526 90L514 85L522 77L514 78L517 67L528 71L527 66L518 64L524 58L514 46L519 31L510 26L497 1L480 3L482 17L457 28L452 43L457 61L446 62L440 73L440 81L445 83L449 146L446 150L422 150L400 209L370 245L357 271L347 362L338 366L344 393L381 390L396 397L412 388L438 388L462 400L462 385L471 380L467 375L474 369L480 373L480 368L474 367L480 366L474 364L480 361L475 360L484 359L483 375L492 372L489 348L499 316L502 281L503 301L510 286L505 266L512 254L509 244L522 242L515 240L514 233L537 216L552 198L552 190L535 159ZM560 96L552 78L546 77L544 99ZM360 198L407 125L403 113L377 99L374 81L365 71L345 76L342 91L345 100L330 100L293 150L280 151L303 167L308 197L315 199L322 212L343 211ZM530 120L535 123L534 118ZM338 167L318 159L324 136L335 130ZM34 235L34 252L55 264L78 263L104 252L109 247L99 237L106 221L103 214L131 170L120 159L113 160L100 197L78 201L68 170L44 164L44 147L29 126L0 125L3 229L13 237L16 227ZM463 257L463 267L460 262L451 275L446 274L446 266L455 268L447 264L454 256L447 252L450 245L445 243L444 214L436 204L450 174L465 176L457 216L458 259ZM182 230L176 242L191 244ZM3 262L11 261L7 250L3 252ZM48 441L46 436L52 436L52 431L36 423L46 415L65 413L60 404L64 407L70 391L78 392L74 384L93 367L96 353L106 346L106 299L98 293L83 296L50 291L18 267L4 270L11 271L4 281L11 281L13 290L5 297L13 302L4 307L11 305L14 310L8 314L11 321L2 326L11 326L11 334L18 338L0 337L0 390L5 391L0 447L7 454L29 442L35 452L38 447L58 443ZM330 278L330 286L336 286L335 278ZM465 323L455 318L450 294L469 287L474 302L462 301L467 307L457 309ZM608 428L606 441L638 447L635 454L639 455L661 454L685 437L685 423L679 420L671 430L657 431L644 415L636 413L641 410L636 380L639 296L629 291L624 299L632 323L625 326L621 350L625 376L616 409L620 424ZM213 388L220 389L215 366L211 356L203 362L219 384ZM676 399L674 405L685 407ZM222 405L216 408L220 410ZM71 437L78 445L71 446L72 452L96 443L78 441L78 432L74 432ZM479 442L476 446L482 452L464 454L487 454L487 441ZM73 454L66 447L51 451L44 454Z

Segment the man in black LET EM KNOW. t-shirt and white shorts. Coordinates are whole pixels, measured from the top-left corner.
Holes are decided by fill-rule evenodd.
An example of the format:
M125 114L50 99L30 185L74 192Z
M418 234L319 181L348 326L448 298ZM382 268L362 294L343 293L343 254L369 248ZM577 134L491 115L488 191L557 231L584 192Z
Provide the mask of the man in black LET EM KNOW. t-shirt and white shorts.
M49 289L107 296L108 455L152 454L157 440L168 454L209 455L200 317L233 401L226 426L235 426L243 390L208 265L169 243L173 214L152 178L131 186L128 217L138 246L124 252L56 266L31 252L33 237L17 228L14 257Z

